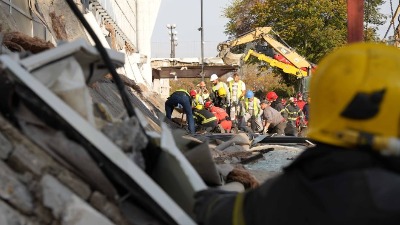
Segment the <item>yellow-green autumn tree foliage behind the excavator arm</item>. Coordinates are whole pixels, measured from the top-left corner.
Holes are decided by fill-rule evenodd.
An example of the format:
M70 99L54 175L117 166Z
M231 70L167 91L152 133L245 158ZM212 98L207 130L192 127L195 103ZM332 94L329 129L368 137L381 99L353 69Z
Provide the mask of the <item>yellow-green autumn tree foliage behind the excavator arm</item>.
M366 41L378 40L377 26L386 19L379 13L383 3L384 0L365 0ZM224 16L229 19L225 33L231 38L256 27L272 27L296 52L316 64L347 42L347 0L234 0L225 8ZM273 71L280 74L273 77L290 86L286 91L292 94L289 90L296 90L299 80Z

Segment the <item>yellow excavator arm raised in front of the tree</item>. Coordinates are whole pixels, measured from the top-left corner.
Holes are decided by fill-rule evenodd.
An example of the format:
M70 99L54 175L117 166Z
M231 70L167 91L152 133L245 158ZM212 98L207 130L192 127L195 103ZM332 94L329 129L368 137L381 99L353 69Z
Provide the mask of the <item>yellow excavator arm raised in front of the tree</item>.
M254 44L256 45L254 46ZM244 45L253 46L244 53L233 53L234 48L245 49ZM278 67L283 72L303 78L310 76L316 65L308 62L297 54L285 41L277 35L271 27L258 27L243 34L234 40L218 44L219 57L228 65L239 65L246 62L250 56L267 62L272 67Z

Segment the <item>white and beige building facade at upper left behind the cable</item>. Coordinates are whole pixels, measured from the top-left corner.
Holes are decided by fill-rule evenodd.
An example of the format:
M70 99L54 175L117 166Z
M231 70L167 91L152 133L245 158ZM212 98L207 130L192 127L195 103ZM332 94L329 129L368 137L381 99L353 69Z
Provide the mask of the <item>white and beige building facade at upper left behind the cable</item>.
M86 20L107 48L125 53L119 68L138 84L154 87L151 69L151 35L161 0L75 0ZM91 38L64 0L0 0L0 31L19 31L57 44ZM160 83L159 81L156 82Z

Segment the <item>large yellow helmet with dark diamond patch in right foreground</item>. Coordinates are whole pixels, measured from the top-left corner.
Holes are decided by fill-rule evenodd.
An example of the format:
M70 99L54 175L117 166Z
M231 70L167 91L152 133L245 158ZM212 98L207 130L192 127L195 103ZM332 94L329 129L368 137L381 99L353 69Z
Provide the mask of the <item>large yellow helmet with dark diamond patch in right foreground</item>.
M399 73L395 47L357 43L329 54L311 78L308 137L382 151L389 139L399 143Z

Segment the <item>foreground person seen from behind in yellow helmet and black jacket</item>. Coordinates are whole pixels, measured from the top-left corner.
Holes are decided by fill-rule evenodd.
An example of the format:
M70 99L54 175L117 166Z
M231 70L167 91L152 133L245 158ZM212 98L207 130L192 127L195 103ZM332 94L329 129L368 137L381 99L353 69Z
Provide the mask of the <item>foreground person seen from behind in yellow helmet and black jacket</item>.
M384 44L351 44L322 59L310 84L316 146L258 188L198 192L197 223L398 224L398 71L399 50Z

